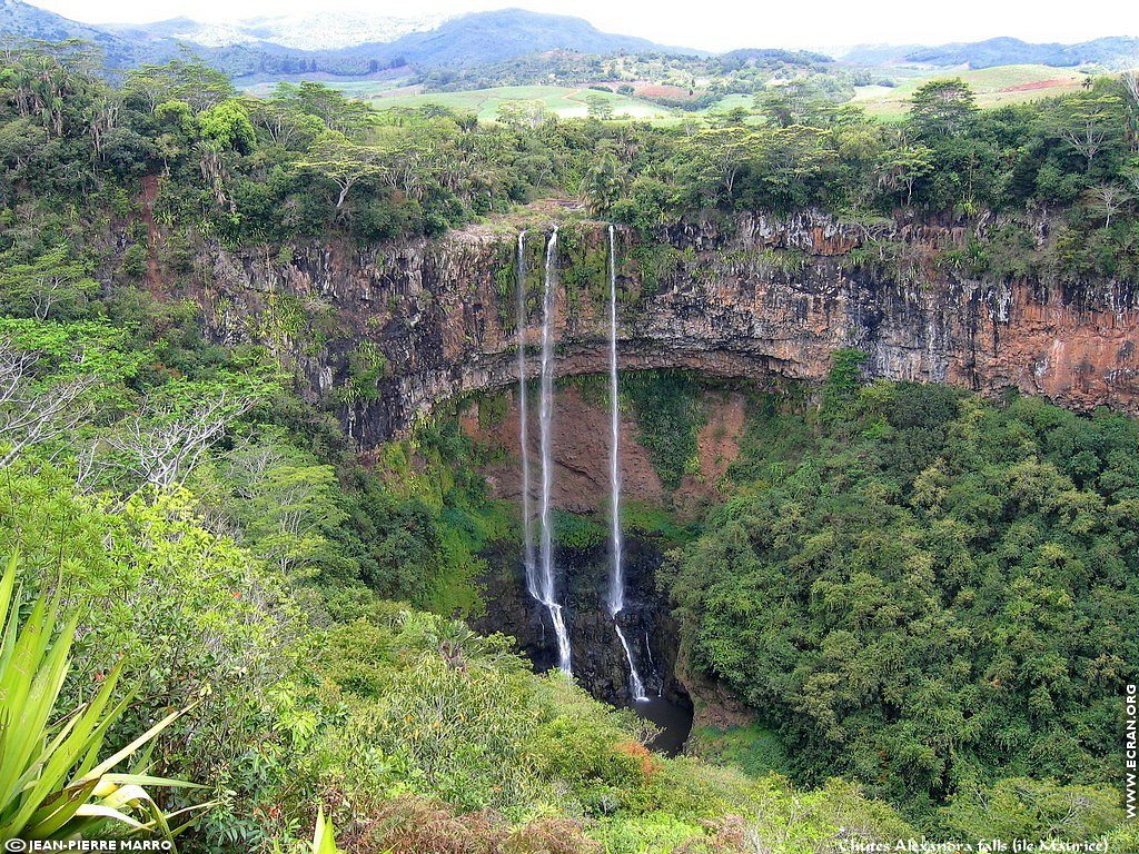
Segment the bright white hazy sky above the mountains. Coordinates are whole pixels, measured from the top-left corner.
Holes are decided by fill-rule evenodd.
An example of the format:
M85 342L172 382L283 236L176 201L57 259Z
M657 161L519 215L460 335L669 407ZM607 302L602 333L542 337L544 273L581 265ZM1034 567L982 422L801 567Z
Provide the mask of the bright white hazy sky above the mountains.
M144 23L187 16L224 22L259 15L370 11L416 17L523 7L587 18L608 32L705 50L740 47L828 48L857 43L942 43L1015 35L1027 41L1074 42L1134 35L1133 0L1088 5L1040 0L32 0L35 6L89 23ZM1049 9L1051 7L1051 9Z

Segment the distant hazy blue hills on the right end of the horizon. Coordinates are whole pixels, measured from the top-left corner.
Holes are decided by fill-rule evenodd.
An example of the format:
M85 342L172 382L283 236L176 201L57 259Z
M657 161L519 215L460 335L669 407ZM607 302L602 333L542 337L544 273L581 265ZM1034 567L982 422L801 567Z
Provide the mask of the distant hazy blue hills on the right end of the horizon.
M859 65L913 64L950 67L992 68L998 65L1050 65L1071 68L1103 65L1130 68L1139 65L1139 39L1109 36L1076 44L1035 44L1008 36L936 47L859 46L842 57Z

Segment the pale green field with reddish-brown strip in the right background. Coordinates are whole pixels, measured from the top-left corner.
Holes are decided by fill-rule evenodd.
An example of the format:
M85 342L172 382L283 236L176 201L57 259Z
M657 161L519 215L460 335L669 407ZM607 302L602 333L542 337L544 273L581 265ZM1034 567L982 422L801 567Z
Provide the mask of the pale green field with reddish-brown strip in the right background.
M898 118L907 110L907 102L923 83L945 77L960 77L977 95L982 107L1002 107L1039 98L1050 98L1080 89L1088 75L1071 68L1047 65L1001 65L977 71L941 71L936 74L915 75L894 87L859 87L852 100L867 113L882 118Z

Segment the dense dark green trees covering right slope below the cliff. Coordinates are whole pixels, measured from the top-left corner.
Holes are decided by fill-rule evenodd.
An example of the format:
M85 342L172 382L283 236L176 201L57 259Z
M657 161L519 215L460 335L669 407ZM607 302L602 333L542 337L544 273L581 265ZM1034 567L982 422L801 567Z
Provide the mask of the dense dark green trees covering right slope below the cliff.
M1139 656L1134 422L860 387L846 355L813 417L768 403L738 495L675 555L694 660L797 777L852 775L931 828L1066 803L1003 778L1111 783ZM1113 797L1075 797L1064 831L1101 830Z

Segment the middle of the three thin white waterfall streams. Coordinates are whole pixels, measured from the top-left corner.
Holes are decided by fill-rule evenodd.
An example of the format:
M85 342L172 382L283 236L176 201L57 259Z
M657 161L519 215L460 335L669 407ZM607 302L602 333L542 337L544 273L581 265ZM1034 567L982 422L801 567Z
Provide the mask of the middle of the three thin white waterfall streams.
M554 306L555 278L558 252L558 229L555 225L546 245L546 274L542 295L542 376L541 401L539 407L539 436L542 451L542 492L539 507L541 524L541 578L538 599L550 613L554 633L558 640L558 667L563 673L573 675L572 654L570 649L570 632L566 630L565 615L558 605L557 585L554 570L554 525L550 518L550 494L554 487L554 455L550 425L554 418Z

